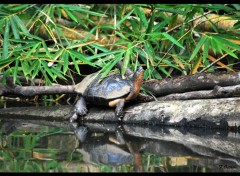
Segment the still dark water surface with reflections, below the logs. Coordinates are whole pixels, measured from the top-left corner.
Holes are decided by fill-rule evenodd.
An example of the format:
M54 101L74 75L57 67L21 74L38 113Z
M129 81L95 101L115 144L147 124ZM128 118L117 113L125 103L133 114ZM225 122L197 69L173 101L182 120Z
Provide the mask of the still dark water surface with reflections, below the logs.
M0 172L239 172L239 133L0 118Z

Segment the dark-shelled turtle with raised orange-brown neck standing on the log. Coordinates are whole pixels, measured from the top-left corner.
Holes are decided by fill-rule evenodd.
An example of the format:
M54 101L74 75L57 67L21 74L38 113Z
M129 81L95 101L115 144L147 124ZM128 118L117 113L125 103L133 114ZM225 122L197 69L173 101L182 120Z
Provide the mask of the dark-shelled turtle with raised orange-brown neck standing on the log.
M123 78L121 74L109 74L101 79L101 74L93 73L86 76L75 87L75 92L80 94L80 98L74 106L74 113L70 117L70 122L78 119L78 116L87 114L86 102L94 105L116 107L115 117L122 121L125 102L136 98L143 83L144 69L139 66L130 77Z

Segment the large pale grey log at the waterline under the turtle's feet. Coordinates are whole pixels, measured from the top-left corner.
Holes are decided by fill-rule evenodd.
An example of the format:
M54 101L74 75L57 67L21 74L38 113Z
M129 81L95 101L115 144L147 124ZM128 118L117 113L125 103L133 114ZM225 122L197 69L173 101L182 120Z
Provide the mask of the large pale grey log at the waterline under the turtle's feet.
M62 121L71 115L72 110L72 106L6 108L1 109L0 116ZM204 128L240 125L240 98L154 101L126 105L124 111L124 123ZM89 107L89 113L80 119L88 122L117 121L114 108L104 107Z

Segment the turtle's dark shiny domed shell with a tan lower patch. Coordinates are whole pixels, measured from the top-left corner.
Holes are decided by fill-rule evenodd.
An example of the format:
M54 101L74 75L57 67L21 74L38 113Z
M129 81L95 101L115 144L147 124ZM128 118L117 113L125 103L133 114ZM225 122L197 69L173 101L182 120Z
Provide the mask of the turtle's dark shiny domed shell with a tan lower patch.
M87 101L94 104L106 105L111 100L127 96L132 90L132 81L123 79L120 74L107 76L101 82L99 77L92 81L83 94Z

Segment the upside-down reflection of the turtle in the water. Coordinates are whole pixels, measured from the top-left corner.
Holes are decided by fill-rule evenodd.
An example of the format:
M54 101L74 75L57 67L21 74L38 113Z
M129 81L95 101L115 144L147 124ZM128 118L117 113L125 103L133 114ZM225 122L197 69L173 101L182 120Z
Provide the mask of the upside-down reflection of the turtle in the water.
M134 171L144 171L142 154L140 153L144 144L135 145L136 143L132 143L131 140L126 140L122 126L115 127L115 134L107 132L103 136L90 134L85 142L83 139L86 139L88 131L86 126L79 126L75 130L77 138L81 141L77 151L83 154L85 162L111 166L133 164Z

